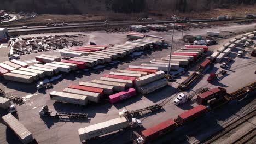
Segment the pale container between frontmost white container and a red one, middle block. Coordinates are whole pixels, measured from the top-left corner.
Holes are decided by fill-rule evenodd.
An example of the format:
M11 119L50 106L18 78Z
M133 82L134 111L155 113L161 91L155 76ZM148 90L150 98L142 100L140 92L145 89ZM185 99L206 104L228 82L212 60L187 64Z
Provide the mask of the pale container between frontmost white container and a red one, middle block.
M63 89L63 92L85 95L89 101L92 101L92 102L95 102L95 103L98 103L100 101L100 98L101 98L100 93L83 91L83 90L73 89L73 88L65 88L65 89Z

